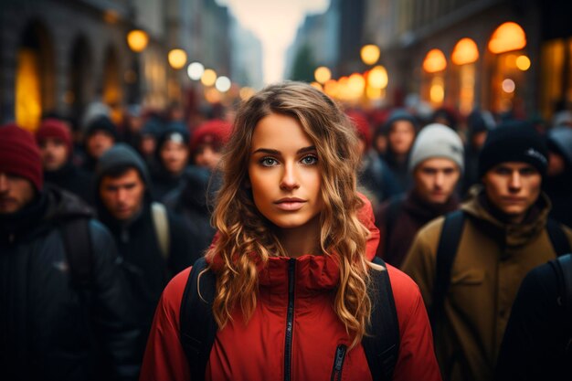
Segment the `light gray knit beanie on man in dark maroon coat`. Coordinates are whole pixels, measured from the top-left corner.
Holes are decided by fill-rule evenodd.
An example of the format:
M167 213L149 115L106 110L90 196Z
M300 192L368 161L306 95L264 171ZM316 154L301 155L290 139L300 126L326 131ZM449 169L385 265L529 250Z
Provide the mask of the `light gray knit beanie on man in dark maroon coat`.
M425 126L417 135L411 156L409 171L413 171L421 162L432 158L450 159L459 165L461 172L464 168L463 146L457 132L440 123Z

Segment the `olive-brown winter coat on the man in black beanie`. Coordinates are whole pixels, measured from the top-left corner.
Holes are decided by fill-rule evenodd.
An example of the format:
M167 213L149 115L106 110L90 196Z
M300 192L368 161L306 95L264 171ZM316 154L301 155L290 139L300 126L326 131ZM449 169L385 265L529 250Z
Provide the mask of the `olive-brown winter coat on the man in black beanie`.
M481 185L461 206L465 218L450 272L445 320L436 322L435 350L445 380L491 380L516 291L524 275L556 258L546 231L550 201L541 194L521 224L493 216ZM403 270L431 308L435 259L444 217L419 230ZM565 228L572 242L572 231Z

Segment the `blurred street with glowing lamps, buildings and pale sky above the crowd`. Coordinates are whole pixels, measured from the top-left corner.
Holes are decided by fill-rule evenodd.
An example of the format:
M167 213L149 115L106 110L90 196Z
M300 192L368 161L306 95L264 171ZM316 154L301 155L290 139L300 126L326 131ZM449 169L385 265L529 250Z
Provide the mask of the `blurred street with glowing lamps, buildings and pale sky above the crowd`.
M194 115L281 79L349 107L479 107L550 119L572 101L572 2L2 0L0 119L34 131L93 102Z

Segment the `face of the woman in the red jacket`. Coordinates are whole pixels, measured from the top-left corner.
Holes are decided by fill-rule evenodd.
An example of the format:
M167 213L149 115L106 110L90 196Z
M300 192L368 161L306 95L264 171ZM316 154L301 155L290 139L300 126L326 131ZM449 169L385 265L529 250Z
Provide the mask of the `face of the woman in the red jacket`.
M260 213L278 228L319 228L323 198L318 160L314 144L294 118L270 114L257 123L249 185Z

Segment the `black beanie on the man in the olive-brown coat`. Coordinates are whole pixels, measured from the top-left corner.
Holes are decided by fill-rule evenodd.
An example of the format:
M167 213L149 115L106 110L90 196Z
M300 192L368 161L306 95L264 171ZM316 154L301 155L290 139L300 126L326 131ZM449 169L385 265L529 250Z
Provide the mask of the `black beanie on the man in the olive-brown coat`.
M527 122L503 122L487 134L479 156L479 177L496 164L522 162L546 175L548 150L544 139Z

